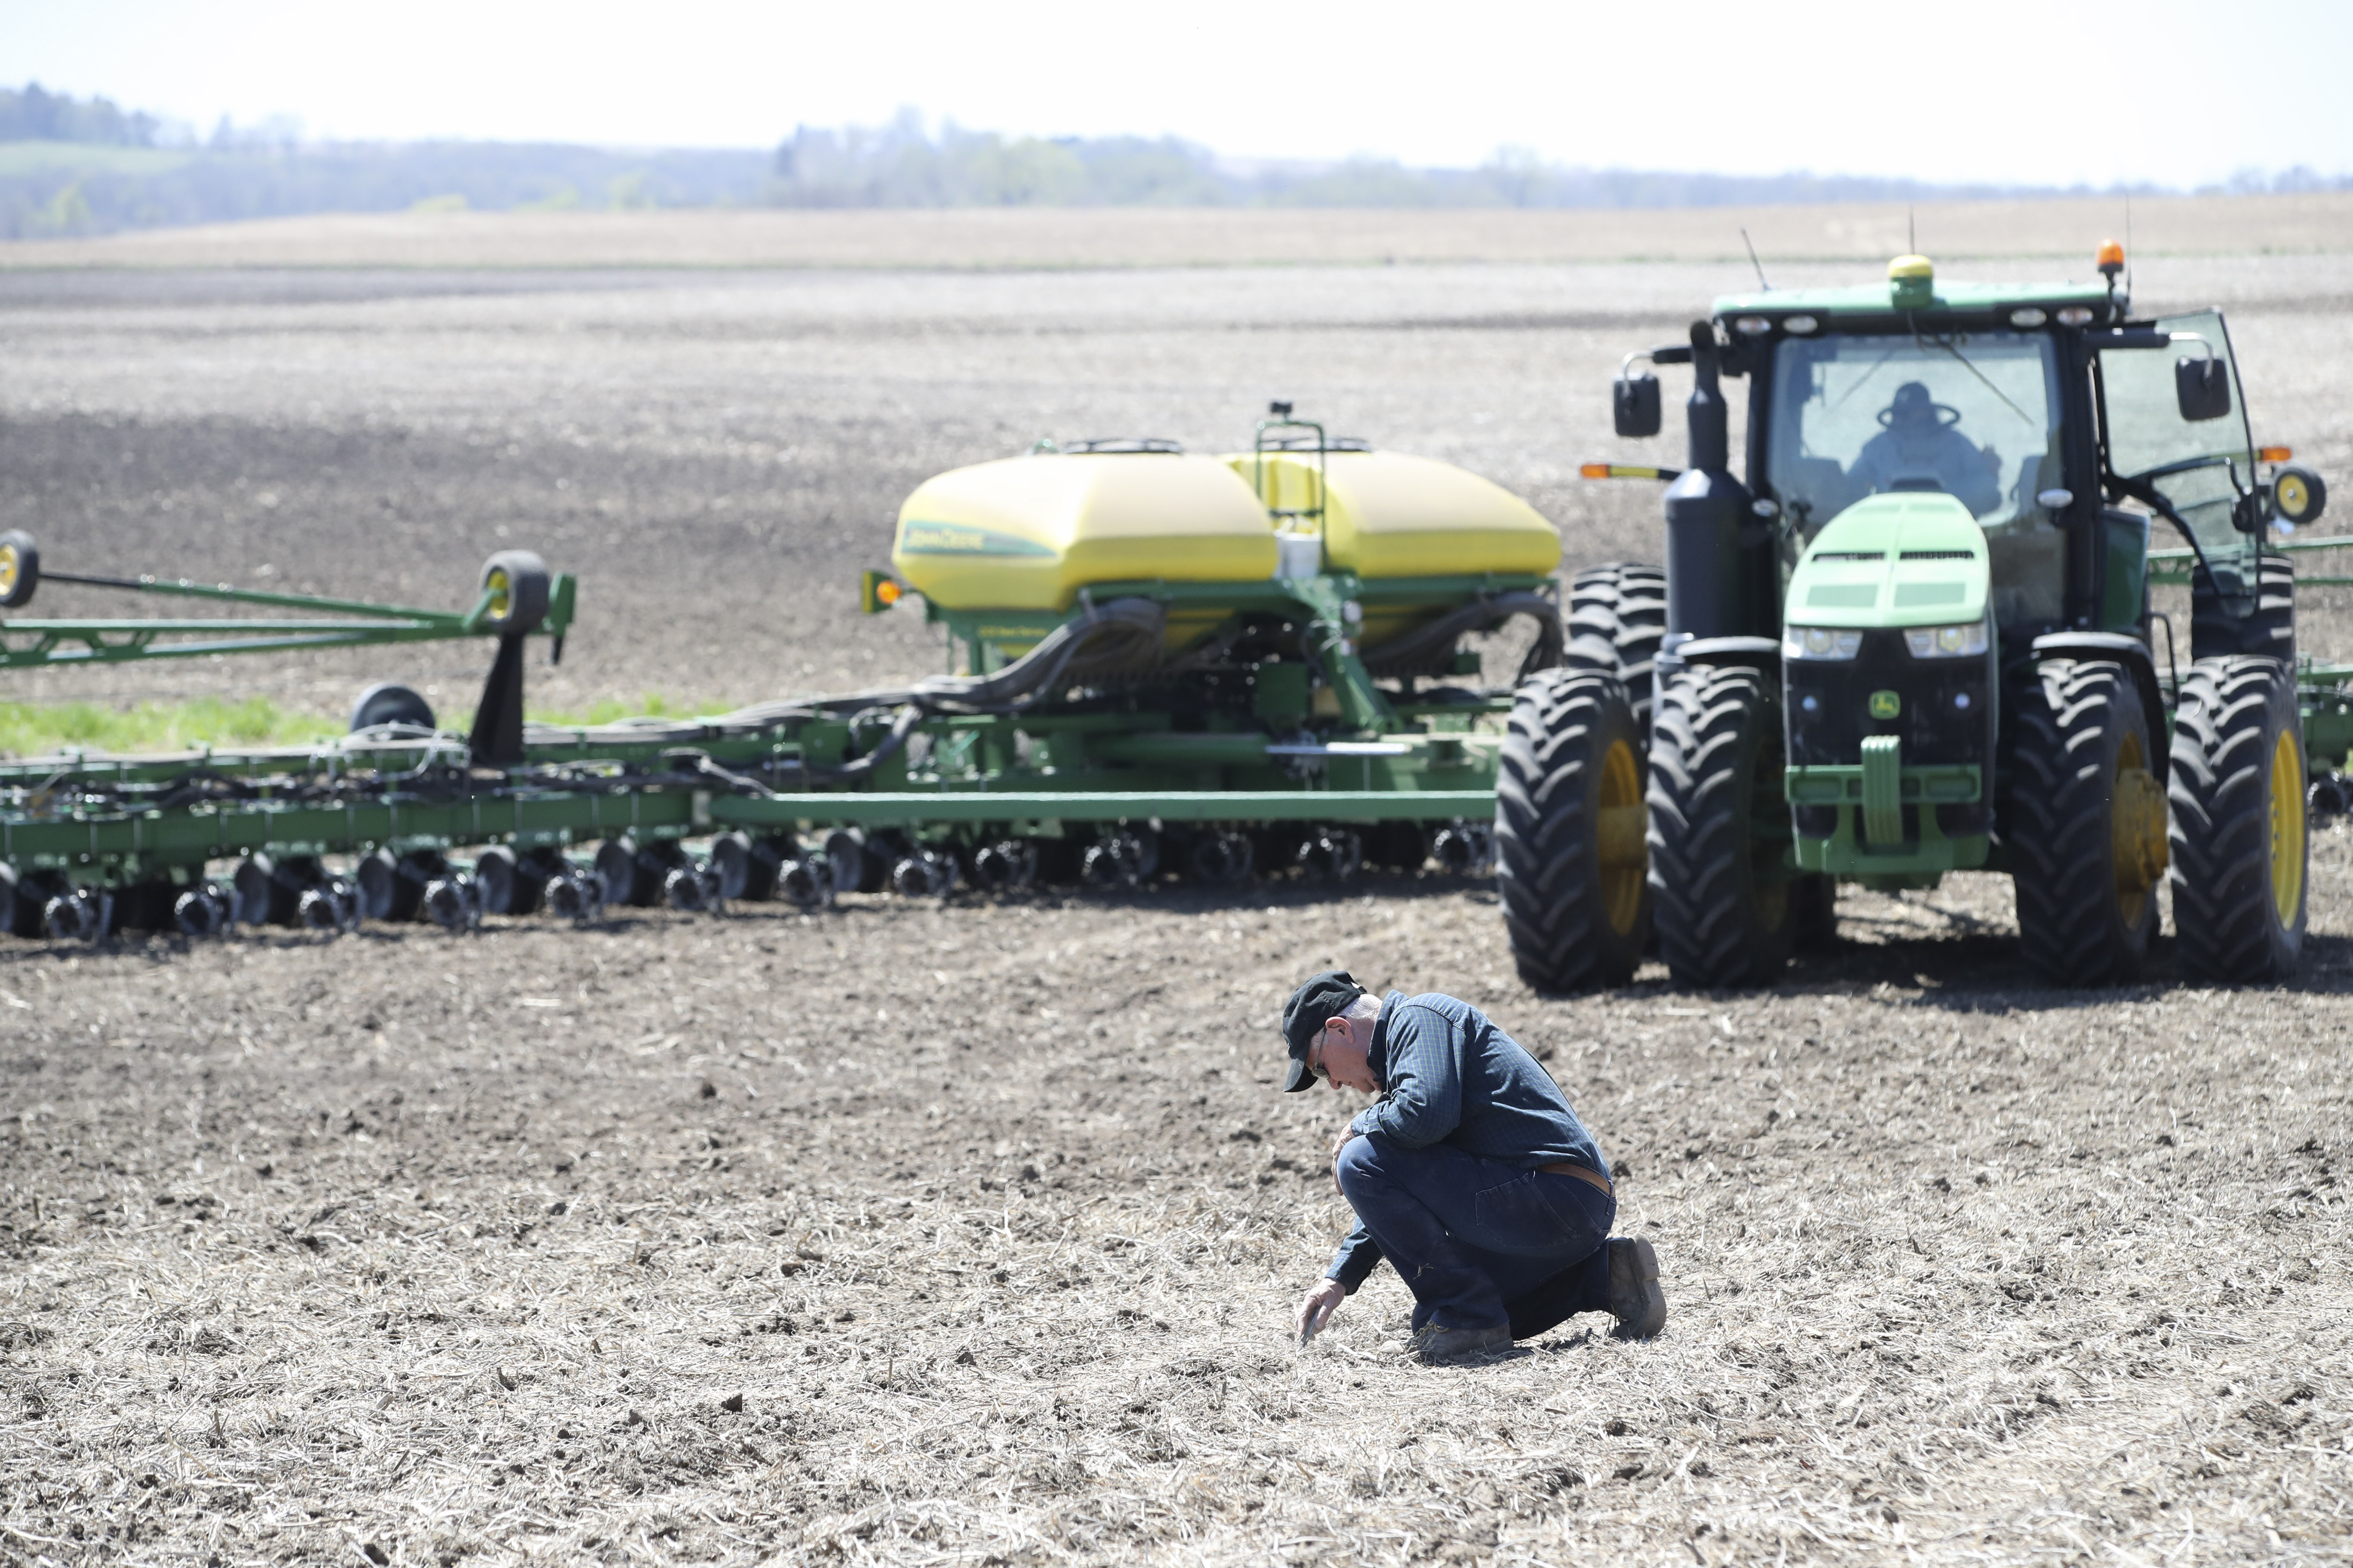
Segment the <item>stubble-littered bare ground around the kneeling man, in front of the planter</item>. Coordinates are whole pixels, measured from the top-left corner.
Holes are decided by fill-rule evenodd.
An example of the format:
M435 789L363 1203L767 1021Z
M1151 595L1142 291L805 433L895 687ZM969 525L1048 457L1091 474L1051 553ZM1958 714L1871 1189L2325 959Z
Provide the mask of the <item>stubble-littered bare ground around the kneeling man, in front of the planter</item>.
M2346 860L2332 835L2329 886ZM2304 990L2082 999L1969 936L2005 898L1965 879L1852 900L1852 950L1774 994L1539 1001L1482 893L1372 889L19 959L9 1540L28 1561L2332 1540L2341 938ZM1285 1342L1344 1215L1315 1154L1337 1112L1273 1093L1268 1023L1329 957L1480 994L1548 1058L1631 1166L1664 1340L1581 1319L1412 1368L1384 1272L1311 1352Z

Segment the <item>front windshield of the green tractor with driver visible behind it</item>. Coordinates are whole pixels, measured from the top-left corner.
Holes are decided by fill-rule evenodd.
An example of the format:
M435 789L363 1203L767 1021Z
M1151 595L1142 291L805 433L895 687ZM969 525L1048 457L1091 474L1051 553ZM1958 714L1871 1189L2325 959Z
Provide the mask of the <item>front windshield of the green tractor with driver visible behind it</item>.
M1800 543L1864 496L1958 496L1986 529L1995 621L2057 623L2066 536L2035 496L2064 484L2059 409L2045 334L1784 339L1767 482Z

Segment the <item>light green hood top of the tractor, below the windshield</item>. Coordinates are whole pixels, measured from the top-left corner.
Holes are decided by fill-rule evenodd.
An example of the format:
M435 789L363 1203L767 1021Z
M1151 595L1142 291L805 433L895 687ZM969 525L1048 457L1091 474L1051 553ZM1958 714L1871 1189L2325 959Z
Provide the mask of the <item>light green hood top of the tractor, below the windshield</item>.
M1944 494L1868 496L1824 524L1788 581L1791 625L1986 618L1986 531Z

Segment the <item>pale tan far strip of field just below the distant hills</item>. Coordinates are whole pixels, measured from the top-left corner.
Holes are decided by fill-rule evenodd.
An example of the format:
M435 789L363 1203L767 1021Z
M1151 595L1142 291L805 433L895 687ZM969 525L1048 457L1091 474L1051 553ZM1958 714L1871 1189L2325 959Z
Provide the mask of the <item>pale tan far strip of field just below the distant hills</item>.
M0 268L1160 268L1431 261L1885 263L2064 256L2104 237L2141 256L2344 249L2353 195L2113 195L1774 207L948 207L671 212L367 212L7 240Z

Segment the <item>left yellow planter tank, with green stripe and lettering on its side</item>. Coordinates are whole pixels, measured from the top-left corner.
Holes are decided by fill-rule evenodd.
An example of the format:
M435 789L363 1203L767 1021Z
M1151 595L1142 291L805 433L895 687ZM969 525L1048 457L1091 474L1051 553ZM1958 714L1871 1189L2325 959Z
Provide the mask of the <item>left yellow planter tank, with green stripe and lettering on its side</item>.
M1089 583L1275 574L1266 508L1176 451L1033 454L951 468L899 508L899 576L941 609L1068 609Z

